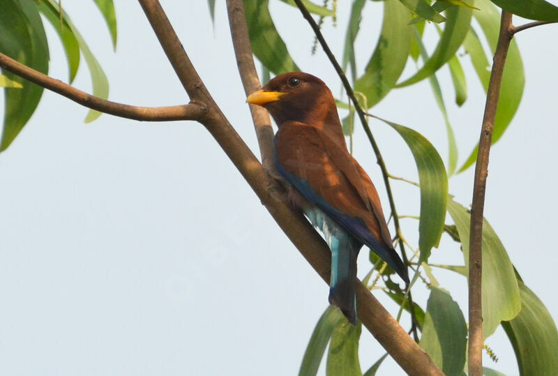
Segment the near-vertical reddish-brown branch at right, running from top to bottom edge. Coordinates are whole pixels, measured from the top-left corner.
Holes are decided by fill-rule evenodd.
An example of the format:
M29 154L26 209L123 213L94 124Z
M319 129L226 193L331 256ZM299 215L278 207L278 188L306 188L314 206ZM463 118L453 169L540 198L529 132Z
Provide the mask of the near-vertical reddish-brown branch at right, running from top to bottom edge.
M502 84L502 73L508 55L508 48L513 38L512 15L502 10L498 43L490 73L490 82L486 94L486 103L478 141L473 203L471 209L471 236L469 238L469 375L483 375L483 310L482 310L482 272L483 272L483 211L488 176L488 156L492 143L492 130Z

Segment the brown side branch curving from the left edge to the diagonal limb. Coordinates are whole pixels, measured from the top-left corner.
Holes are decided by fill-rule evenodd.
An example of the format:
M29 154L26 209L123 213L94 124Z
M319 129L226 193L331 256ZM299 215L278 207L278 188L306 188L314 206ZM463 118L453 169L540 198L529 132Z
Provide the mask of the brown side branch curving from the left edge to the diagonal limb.
M0 54L0 67L26 80L38 84L40 87L59 93L80 105L111 114L140 121L172 121L172 120L198 120L204 115L204 107L198 104L178 105L169 107L139 107L123 105L122 103L104 100L84 91L75 89L68 84L55 80L52 77L24 66L14 59Z

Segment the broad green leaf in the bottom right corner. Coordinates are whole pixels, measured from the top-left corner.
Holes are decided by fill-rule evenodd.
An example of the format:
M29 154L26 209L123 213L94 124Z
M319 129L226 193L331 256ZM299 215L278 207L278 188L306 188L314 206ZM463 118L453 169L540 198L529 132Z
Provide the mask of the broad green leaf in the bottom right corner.
M558 370L558 331L543 302L519 283L521 312L502 322L510 339L520 375L555 375Z

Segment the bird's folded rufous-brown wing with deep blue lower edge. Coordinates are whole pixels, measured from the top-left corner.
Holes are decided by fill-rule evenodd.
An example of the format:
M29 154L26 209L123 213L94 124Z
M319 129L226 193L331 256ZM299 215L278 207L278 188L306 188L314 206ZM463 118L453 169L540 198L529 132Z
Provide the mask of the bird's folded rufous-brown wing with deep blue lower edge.
M274 142L278 171L306 200L319 206L408 280L407 269L391 246L389 232L384 234L387 227L382 228L382 208L373 208L379 205L379 198L375 189L370 189L370 178L365 175L368 181L363 181L360 166L354 164L346 149L343 154L332 140L324 142L319 132L303 123L283 123ZM370 195L374 196L372 200Z

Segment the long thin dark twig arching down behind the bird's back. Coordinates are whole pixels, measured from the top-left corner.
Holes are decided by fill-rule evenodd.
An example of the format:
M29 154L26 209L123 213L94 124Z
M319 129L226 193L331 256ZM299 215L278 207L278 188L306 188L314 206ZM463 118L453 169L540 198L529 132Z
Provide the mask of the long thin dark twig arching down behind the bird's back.
M372 131L370 130L370 127L368 126L368 121L366 121L366 112L362 109L360 103L356 100L356 96L354 95L354 91L351 87L351 84L349 84L349 80L347 80L347 76L345 76L345 73L343 72L341 66L339 65L337 59L335 59L335 55L333 55L333 52L331 52L331 49L329 48L329 45L326 43L326 40L324 39L324 36L322 36L322 31L319 30L319 26L318 24L315 22L315 20L312 18L312 15L310 15L310 12L308 12L308 9L306 9L306 6L304 6L304 4L302 3L301 0L294 0L294 2L296 3L296 6L299 7L299 9L301 10L301 13L303 15L304 18L306 18L306 20L308 21L308 23L310 24L310 27L312 27L312 30L314 31L317 40L319 41L320 45L322 45L322 48L324 49L324 52L326 53L327 57L329 58L329 61L331 61L331 64L333 65L333 68L335 69L335 72L337 72L343 87L345 87L345 90L347 91L347 96L352 100L352 102L354 103L354 108L356 110L356 113L359 114L359 119L361 120L362 126L364 128L364 131L366 133L366 135L368 136L368 140L370 140L370 144L372 145L372 149L374 150L374 153L376 155L376 159L377 159L377 163L379 165L380 170L382 170L382 176L384 178L384 185L386 186L386 191L388 194L388 200L389 200L389 206L391 208L391 215L393 216L393 225L395 226L395 233L399 234L400 231L400 226L399 226L399 219L398 219L398 215L397 215L397 210L395 209L395 200L393 200L393 193L391 192L391 185L389 183L389 173L386 167L386 163L384 163L384 158L382 158L382 153L379 151L379 147L376 144L376 140L374 139L374 136L372 135ZM403 259L403 262L407 265L408 264L408 260L407 260L407 255L405 255L405 246L403 246L402 243L399 243L399 247L400 247L400 252L401 252L401 257ZM405 283L405 289L409 288L409 284ZM416 331L416 317L414 314L414 305L413 305L413 298L411 295L411 292L409 291L409 295L408 295L408 299L409 299L409 307L411 308L411 325L412 325L412 332L414 335L414 340L416 342L418 342L418 333Z

